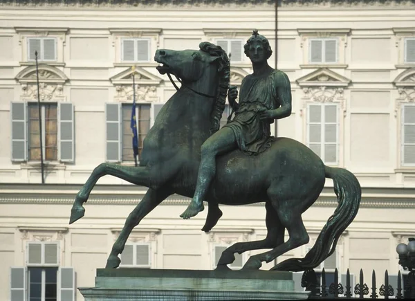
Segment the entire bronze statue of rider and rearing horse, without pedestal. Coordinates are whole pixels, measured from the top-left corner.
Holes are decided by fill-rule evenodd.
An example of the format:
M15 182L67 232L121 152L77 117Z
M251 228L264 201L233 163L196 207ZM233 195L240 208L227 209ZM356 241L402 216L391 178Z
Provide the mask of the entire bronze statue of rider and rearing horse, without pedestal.
M270 136L270 122L291 113L289 82L284 73L264 63L270 55L264 37L255 32L247 44L245 49L254 74L243 80L240 104L234 102L236 92L230 91L230 105L236 116L220 131L230 75L226 53L208 42L202 42L199 51L156 51L154 60L161 64L158 71L175 75L182 86L166 102L149 130L140 166L98 165L77 193L71 210L70 224L84 216L83 203L98 179L107 174L149 188L127 217L113 244L107 268L119 266L118 255L131 230L171 194L194 197L183 218L196 215L203 209L202 201L208 202L205 231L212 229L221 217L219 204L265 203L266 238L230 246L223 251L218 268L228 268L234 253L271 248L251 256L243 266L258 269L262 262L271 262L307 244L309 237L302 213L317 200L326 178L333 179L338 208L304 258L286 259L272 269L315 268L334 252L340 235L356 217L361 189L351 172L325 166L311 149L296 140ZM216 170L207 170L209 166Z

